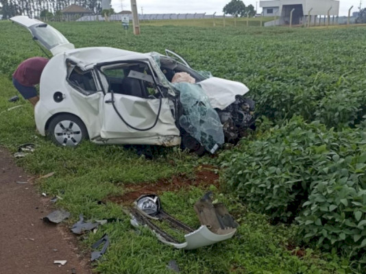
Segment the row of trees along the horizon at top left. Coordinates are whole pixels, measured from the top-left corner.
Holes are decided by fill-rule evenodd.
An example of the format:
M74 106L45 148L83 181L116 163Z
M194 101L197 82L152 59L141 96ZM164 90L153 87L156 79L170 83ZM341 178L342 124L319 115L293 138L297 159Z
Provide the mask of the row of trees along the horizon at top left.
M81 5L95 13L101 12L101 0L0 0L3 19L16 15L57 15L60 14L60 10L72 4Z

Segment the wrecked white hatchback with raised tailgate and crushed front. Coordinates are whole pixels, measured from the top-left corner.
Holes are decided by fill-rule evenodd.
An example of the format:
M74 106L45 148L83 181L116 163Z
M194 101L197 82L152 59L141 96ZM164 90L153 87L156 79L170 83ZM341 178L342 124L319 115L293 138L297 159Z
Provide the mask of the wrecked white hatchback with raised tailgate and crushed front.
M53 54L40 78L38 132L57 145L182 145L215 153L254 125L254 102L239 82L191 69L166 51L137 53L110 47L75 49L60 32L27 16L27 27ZM174 55L174 58L169 55Z

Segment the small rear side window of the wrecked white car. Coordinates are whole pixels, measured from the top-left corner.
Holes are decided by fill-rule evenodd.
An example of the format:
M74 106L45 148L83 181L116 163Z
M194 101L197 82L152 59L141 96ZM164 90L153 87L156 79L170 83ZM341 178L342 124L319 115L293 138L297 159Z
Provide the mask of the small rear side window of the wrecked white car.
M70 84L84 95L91 95L97 92L93 73L91 71L82 71L77 66L73 68L69 75Z

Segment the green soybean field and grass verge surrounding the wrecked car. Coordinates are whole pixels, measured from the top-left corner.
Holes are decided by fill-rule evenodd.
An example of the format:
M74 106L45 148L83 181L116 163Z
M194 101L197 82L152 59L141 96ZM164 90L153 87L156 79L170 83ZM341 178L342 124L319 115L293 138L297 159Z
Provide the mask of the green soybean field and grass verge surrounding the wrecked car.
M95 273L366 273L366 27L192 27L121 23L52 23L75 47L138 52L171 49L194 69L243 82L256 101L256 131L217 156L167 148L153 160L123 146L83 142L56 147L35 132L32 105L12 103L12 73L25 59L45 56L32 35L0 21L0 145L34 153L17 164L35 176L39 192L59 195L56 207L86 219L110 219L80 237L84 256L103 234L107 253ZM14 106L19 106L9 110ZM134 186L197 181L206 169L215 184L160 193L164 210L199 227L193 210L212 190L239 223L236 235L194 251L173 249L149 229L135 229L123 197ZM103 201L103 203L97 203Z

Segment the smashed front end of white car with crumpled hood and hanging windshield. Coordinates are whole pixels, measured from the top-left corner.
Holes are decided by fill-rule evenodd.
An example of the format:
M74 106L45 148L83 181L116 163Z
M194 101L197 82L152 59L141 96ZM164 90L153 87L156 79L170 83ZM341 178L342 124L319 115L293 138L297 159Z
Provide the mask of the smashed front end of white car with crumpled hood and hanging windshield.
M244 84L195 71L184 60L150 54L160 81L174 91L182 148L213 154L225 142L236 144L254 129L255 104L243 97L249 91Z

